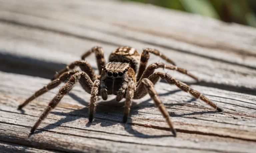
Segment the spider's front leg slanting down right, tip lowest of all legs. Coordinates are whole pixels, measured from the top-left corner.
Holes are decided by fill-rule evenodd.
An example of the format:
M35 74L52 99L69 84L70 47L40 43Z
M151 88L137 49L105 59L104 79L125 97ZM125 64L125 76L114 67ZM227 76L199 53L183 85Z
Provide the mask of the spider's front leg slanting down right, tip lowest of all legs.
M142 79L141 83L143 84L144 90L146 89L146 92L153 99L156 107L160 110L163 117L166 119L166 122L168 123L170 130L172 131L172 134L176 137L176 130L174 129L173 122L172 122L170 115L168 114L164 104L162 103L160 97L158 96L158 93L156 92L156 90L154 88L154 84L147 78ZM139 97L134 97L134 98L138 99Z

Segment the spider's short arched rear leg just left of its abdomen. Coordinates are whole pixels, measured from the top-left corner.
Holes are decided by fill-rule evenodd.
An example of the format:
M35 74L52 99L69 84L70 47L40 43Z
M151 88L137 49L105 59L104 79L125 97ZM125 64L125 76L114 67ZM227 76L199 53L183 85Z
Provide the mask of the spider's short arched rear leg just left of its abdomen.
M95 53L95 57L96 57L97 65L99 69L99 75L101 75L102 67L106 64L102 47L98 47L98 46L92 47L90 50L88 50L82 55L82 60L84 60L85 57L89 56L92 52Z

